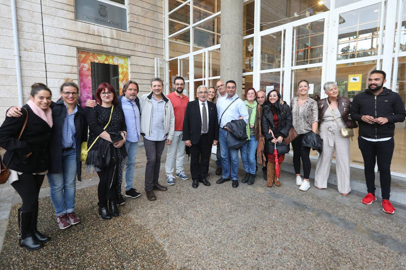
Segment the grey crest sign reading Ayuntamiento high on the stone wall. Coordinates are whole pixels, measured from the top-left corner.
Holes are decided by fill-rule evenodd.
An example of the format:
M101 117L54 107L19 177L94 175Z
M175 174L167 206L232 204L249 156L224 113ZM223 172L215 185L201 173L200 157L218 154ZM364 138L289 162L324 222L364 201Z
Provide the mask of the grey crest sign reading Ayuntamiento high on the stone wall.
M127 30L127 9L97 0L75 0L76 19Z

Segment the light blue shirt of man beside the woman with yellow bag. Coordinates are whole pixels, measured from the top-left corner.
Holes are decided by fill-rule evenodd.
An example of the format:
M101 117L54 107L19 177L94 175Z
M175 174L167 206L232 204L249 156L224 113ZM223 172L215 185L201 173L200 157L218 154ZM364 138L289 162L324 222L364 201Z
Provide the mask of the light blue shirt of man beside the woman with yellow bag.
M127 125L127 138L129 142L138 142L140 140L140 111L135 100L129 100L125 96L121 98L121 107L123 108L125 124Z

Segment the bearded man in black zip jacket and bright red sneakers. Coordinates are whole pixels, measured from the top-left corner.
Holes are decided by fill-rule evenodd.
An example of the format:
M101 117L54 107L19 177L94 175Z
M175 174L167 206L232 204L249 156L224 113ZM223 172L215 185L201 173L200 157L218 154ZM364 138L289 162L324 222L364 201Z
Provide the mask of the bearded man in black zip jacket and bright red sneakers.
M389 202L391 192L391 161L395 147L393 134L396 122L405 120L406 112L399 94L383 87L386 73L374 70L369 74L368 89L354 97L350 115L358 121L358 146L364 159L368 194L362 199L371 204L375 197L375 160L378 163L382 189L382 210L395 213Z

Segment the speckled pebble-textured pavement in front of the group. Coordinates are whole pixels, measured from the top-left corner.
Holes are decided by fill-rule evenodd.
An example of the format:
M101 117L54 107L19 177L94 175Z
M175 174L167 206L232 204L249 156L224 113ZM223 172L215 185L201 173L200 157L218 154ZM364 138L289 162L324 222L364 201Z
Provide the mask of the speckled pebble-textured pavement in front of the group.
M166 154L163 154L164 162ZM214 155L215 157L215 155ZM187 158L185 164L188 164ZM134 184L142 196L127 199L121 214L102 221L97 214L97 178L78 183L76 213L82 222L59 230L44 183L39 227L52 241L28 252L17 243L18 195L0 190L4 242L0 269L9 268L380 268L405 269L406 209L395 215L362 195L341 196L337 187L302 192L283 172L281 187L268 188L261 175L252 186L215 183L192 189L176 179L149 202L143 192L145 151L140 148ZM242 168L242 167L241 167ZM189 174L189 166L185 166ZM242 171L240 171L242 176ZM164 164L160 183L164 183ZM9 209L9 219L4 218ZM10 210L11 209L11 210Z

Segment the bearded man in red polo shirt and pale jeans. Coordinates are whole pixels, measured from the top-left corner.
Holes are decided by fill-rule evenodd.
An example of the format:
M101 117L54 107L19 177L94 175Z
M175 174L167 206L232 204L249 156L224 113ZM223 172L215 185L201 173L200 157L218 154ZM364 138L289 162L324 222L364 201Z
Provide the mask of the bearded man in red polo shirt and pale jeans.
M175 155L176 155L176 176L187 180L189 176L183 171L183 161L185 158L185 143L183 138L183 120L186 113L186 106L188 105L189 98L183 94L185 88L185 80L182 77L176 77L173 80L174 90L171 94L166 96L171 100L173 106L173 112L175 113L175 133L173 134L172 143L168 145L168 151L166 153L166 183L168 185L174 185L175 180L173 177L173 170L175 167Z

